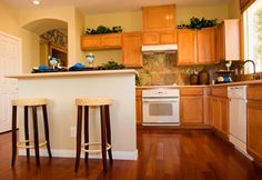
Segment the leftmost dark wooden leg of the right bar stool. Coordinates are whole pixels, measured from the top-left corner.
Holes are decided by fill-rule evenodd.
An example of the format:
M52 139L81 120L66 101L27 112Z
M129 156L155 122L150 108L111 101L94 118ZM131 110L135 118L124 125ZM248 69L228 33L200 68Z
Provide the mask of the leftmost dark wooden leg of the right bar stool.
M81 131L82 131L82 107L78 106L78 122L77 122L77 156L74 171L79 169L80 152L81 152Z

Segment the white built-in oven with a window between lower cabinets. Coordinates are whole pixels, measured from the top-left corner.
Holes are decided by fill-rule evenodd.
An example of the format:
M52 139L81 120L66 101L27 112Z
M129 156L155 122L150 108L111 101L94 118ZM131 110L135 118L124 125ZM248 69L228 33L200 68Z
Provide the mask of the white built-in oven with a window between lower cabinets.
M142 90L143 126L180 123L179 89Z

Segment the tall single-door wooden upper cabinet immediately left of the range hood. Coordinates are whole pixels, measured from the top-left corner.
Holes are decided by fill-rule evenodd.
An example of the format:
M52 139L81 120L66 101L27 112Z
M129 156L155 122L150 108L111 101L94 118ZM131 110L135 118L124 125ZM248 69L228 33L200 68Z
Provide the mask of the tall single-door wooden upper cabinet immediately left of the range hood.
M142 67L141 33L122 34L122 62L125 67Z

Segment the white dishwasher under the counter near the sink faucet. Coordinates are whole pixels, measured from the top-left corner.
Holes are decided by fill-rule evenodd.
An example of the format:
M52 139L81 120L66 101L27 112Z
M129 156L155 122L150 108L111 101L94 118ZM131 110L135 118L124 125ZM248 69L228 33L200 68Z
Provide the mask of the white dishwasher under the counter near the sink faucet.
M229 140L244 156L246 152L246 86L228 88L229 102Z

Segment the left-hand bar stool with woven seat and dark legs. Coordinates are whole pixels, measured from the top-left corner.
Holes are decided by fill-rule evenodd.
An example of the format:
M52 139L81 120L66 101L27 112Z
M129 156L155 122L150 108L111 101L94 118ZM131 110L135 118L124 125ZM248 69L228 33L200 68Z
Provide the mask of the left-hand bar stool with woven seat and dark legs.
M47 146L49 158L52 158L49 140L49 126L48 126L48 112L47 103L48 99L46 98L23 98L23 99L13 99L12 103L12 166L16 163L17 149L23 148L27 149L27 157L30 156L30 149L34 149L37 166L40 166L39 159L39 148ZM17 107L24 107L24 139L20 142L17 142ZM38 116L37 108L42 107L43 123L44 123L44 141L39 141L38 133ZM29 139L29 122L28 122L28 110L32 109L32 121L33 121L33 140ZM31 144L33 143L33 144Z

